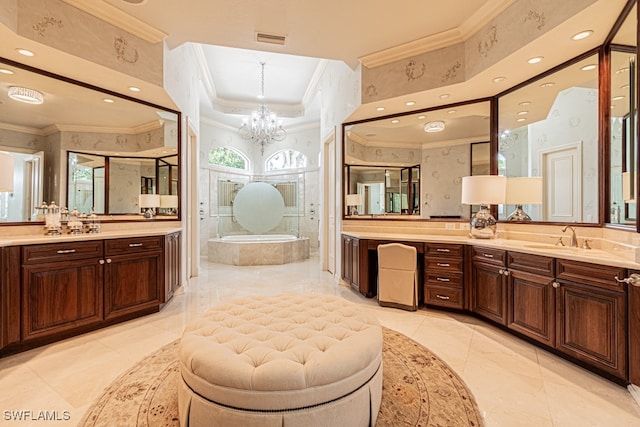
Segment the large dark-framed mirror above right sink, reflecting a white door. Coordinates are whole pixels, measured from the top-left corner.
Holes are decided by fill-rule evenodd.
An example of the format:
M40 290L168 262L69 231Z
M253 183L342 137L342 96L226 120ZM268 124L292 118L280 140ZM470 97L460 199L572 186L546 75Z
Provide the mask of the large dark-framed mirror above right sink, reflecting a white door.
M539 198L517 202L533 221L599 222L598 98L597 54L499 96L498 173L542 178Z

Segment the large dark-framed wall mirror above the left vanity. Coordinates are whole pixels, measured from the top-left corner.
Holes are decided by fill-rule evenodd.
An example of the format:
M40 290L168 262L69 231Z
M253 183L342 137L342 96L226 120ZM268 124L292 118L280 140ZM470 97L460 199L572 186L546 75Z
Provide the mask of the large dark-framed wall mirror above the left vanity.
M138 214L142 185L131 169L145 162L155 194L179 196L179 112L1 58L0 71L0 151L14 157L15 182L12 193L0 193L0 223L34 221L37 207L52 201ZM29 102L15 99L21 94ZM108 158L127 160L109 168ZM131 190L126 201L122 186L105 187L116 182ZM166 211L179 215L171 199L176 207Z

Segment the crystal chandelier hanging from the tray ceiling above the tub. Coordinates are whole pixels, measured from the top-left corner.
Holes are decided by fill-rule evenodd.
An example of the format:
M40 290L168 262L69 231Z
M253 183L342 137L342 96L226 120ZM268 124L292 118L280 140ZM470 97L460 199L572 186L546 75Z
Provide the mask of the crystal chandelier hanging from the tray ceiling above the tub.
M259 98L264 100L265 63L261 62L260 65L262 66L262 91ZM270 144L274 141L283 141L287 136L287 132L282 127L282 120L279 120L276 113L264 104L260 104L260 106L251 113L250 118L242 119L242 126L240 126L239 131L242 138L250 139L260 144L260 153L262 155L264 155L265 144Z

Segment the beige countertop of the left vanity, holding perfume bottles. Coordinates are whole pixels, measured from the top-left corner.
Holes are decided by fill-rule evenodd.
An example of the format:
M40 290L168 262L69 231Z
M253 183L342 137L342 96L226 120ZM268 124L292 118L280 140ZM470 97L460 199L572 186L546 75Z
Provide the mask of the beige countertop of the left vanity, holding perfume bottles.
M8 237L0 237L0 247L3 246L20 246L20 245L37 245L42 243L63 243L63 242L82 242L87 240L104 240L104 239L120 239L126 237L144 237L144 236L164 236L177 231L181 231L181 227L157 227L148 229L124 229L109 230L97 234L60 234L57 236L46 236L43 234L25 234Z

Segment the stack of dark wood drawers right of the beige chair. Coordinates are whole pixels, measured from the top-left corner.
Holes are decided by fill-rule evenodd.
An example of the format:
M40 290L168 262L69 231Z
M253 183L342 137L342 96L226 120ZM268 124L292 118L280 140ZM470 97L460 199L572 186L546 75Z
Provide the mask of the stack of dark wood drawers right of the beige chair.
M426 243L424 246L424 303L464 308L464 245Z

